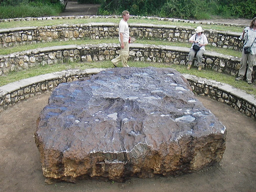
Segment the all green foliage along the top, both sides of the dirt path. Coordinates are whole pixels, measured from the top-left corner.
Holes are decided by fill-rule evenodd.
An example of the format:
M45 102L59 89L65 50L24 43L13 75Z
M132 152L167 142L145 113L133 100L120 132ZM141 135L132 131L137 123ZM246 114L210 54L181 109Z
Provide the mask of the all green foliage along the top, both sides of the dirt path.
M247 18L256 16L255 0L69 0L100 4L98 15L158 16L180 19ZM0 0L0 19L58 16L60 0Z

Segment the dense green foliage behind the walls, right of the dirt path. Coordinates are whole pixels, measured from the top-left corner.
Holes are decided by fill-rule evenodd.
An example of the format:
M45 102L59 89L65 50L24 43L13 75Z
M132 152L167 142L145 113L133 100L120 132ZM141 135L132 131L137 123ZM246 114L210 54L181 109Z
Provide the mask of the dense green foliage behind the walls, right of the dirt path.
M86 1L86 0L80 0ZM131 15L159 16L181 19L253 18L255 0L100 0L99 15L120 15L123 10Z

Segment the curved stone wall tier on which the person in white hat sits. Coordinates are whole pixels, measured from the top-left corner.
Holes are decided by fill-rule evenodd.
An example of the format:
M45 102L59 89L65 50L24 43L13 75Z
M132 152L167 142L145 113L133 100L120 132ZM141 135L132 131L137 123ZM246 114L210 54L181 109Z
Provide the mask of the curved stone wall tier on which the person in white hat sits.
M190 48L184 47L131 44L129 60L186 65L189 50ZM109 61L119 55L119 52L120 47L117 44L66 45L16 52L0 56L0 75L67 61ZM202 63L204 68L235 76L240 68L240 60L240 58L206 51Z

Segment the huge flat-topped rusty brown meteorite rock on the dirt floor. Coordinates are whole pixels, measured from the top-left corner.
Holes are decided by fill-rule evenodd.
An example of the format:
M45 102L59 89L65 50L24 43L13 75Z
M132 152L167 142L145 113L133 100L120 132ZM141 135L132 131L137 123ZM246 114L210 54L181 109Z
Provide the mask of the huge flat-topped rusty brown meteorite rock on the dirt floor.
M62 83L35 132L46 182L122 181L191 173L219 162L225 126L168 68L115 68Z

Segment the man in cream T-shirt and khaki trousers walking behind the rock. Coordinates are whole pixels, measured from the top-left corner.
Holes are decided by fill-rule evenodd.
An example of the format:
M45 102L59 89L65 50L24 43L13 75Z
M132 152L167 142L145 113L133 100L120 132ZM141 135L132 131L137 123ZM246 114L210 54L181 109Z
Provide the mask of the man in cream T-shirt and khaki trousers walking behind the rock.
M126 10L123 11L122 16L123 18L119 23L119 30L118 30L119 43L121 46L121 50L120 50L119 56L111 60L114 67L117 67L117 64L119 61L122 61L123 67L129 67L129 65L127 65L127 60L129 58L129 39L130 39L130 31L127 23L127 21L130 18L129 11L126 11Z

